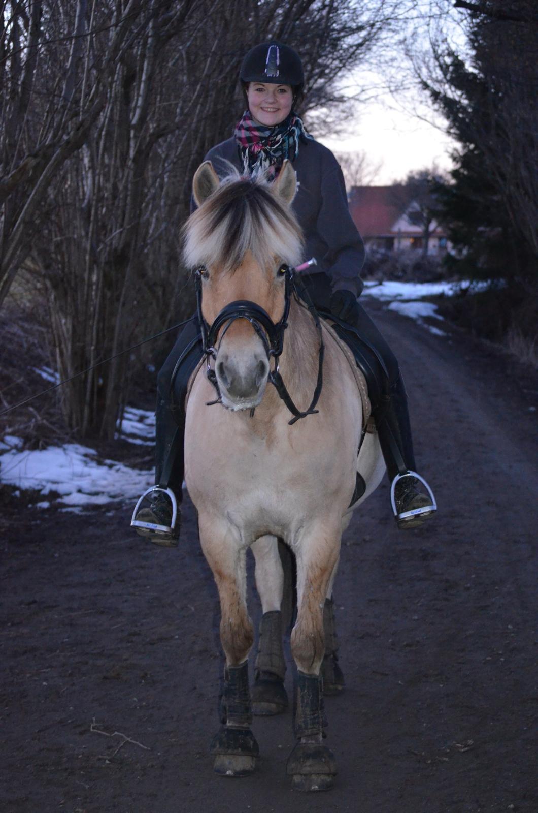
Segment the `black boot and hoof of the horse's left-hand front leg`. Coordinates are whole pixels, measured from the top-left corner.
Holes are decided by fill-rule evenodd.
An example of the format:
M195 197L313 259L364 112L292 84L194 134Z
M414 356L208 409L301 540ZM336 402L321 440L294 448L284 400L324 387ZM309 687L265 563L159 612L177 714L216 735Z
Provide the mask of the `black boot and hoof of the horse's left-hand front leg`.
M226 724L213 737L210 754L219 776L248 776L256 767L258 743L250 731L252 706L249 693L249 664L226 667L221 709Z

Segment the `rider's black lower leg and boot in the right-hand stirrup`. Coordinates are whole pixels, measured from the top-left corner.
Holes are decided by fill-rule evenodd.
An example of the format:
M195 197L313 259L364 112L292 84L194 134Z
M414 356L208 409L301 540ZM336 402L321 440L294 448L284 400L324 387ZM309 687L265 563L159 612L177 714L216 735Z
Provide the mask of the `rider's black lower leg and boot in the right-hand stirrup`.
M436 511L432 490L415 470L406 388L401 376L375 411L375 426L391 481L398 528L415 528Z

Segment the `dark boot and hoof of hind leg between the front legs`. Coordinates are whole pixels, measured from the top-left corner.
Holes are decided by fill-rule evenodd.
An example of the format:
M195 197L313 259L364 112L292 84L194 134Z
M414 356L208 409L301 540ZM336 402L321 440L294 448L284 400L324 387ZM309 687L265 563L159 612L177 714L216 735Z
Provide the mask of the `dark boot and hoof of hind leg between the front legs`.
M289 702L284 689L285 674L282 615L280 611L266 612L262 615L259 627L258 655L252 687L252 711L255 715L266 717L286 711Z

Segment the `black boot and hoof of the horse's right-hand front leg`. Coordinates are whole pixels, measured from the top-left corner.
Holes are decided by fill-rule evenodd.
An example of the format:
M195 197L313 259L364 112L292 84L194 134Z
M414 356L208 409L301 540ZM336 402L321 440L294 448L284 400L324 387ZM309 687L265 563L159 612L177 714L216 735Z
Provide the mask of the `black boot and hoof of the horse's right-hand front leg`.
M289 755L286 772L292 789L304 792L329 790L336 776L332 750L322 745L323 696L319 676L297 675L295 736L299 740Z

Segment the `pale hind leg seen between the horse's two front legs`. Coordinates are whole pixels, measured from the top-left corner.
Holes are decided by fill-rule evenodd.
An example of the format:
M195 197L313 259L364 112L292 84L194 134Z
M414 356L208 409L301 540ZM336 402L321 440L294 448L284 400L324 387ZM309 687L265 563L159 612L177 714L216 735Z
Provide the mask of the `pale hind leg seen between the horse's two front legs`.
M255 715L276 715L288 707L284 689L286 662L282 649L282 593L284 571L276 537L260 537L252 546L256 589L262 601L258 654L252 688Z

